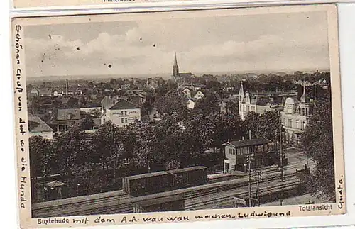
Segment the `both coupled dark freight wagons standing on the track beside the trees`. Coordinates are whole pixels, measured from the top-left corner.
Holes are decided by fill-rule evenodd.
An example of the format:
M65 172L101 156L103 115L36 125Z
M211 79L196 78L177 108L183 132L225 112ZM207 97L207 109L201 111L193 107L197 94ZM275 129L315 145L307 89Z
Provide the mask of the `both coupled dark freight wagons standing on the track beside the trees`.
M144 196L188 186L207 184L207 167L197 166L139 174L122 179L123 189L132 196Z

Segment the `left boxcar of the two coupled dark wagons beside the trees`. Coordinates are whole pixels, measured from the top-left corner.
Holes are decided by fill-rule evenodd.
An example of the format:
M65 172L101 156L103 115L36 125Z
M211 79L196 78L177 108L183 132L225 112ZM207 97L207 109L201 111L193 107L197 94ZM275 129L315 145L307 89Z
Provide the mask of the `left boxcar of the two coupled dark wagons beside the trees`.
M124 191L133 196L143 196L170 190L173 181L167 172L138 174L122 179Z

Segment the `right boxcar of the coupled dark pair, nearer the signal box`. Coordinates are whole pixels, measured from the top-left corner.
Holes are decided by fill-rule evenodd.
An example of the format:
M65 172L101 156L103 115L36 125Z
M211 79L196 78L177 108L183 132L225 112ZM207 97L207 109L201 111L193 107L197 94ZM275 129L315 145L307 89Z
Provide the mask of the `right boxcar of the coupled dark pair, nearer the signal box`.
M208 169L204 166L188 167L168 171L173 179L173 189L196 186L207 183Z

